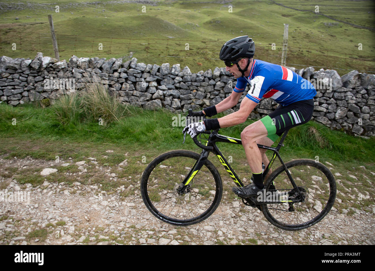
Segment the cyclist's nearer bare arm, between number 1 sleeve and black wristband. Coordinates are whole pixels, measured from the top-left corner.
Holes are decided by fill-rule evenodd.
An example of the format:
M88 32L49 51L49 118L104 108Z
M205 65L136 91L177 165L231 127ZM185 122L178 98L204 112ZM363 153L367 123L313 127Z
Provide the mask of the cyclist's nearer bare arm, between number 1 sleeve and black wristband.
M217 119L220 128L230 127L245 122L257 104L257 102L251 101L251 99L243 99L240 105L240 110Z

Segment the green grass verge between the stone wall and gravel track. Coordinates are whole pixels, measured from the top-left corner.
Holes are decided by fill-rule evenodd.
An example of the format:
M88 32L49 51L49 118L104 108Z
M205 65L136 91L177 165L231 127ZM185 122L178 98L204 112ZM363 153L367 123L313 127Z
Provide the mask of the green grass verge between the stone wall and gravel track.
M135 150L133 155L136 159L150 161L155 154L171 149L187 148L196 150L195 144L187 137L186 143L182 145L181 130L183 127L172 126L172 117L175 116L168 110L148 111L142 108L129 107L127 116L118 115L118 121L108 123L107 126L99 125L98 122L89 120L77 120L65 124L60 123L59 118L54 115L54 109L35 108L32 105L12 107L0 104L0 135L4 142L12 142L13 139L29 142L42 141L40 144L28 144L29 148L15 144L3 144L0 148L1 154L8 154L6 158L24 158L31 156L46 160L54 160L56 155L60 158L72 157L78 159L81 156L90 157L92 149L100 146L98 151L105 149L131 147ZM218 117L222 116L219 114ZM17 119L17 125L12 125L12 119ZM23 121L18 121L23 119ZM252 123L245 123L225 129L220 133L231 137L240 137L242 129ZM56 144L55 142L59 142ZM75 149L72 143L90 148ZM369 163L375 160L373 152L375 139L362 139L345 134L342 131L332 131L320 123L310 121L306 125L297 126L290 130L282 154L290 157L304 157L315 160L320 159L350 162L353 166ZM113 145L113 146L112 146ZM233 164L236 165L239 158L245 157L238 153L241 146L220 144L219 148L228 158L232 156ZM101 162L108 161L108 165L118 164L126 157L118 152L107 153L108 158L99 158ZM132 157L134 158L134 157Z

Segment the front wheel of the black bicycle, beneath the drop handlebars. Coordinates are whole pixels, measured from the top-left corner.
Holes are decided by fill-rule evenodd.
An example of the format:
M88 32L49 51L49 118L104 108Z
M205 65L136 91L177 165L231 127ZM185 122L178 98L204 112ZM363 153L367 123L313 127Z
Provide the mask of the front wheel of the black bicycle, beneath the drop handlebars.
M207 159L189 183L188 193L179 195L178 186L200 155L176 150L156 157L142 174L141 195L147 209L172 225L191 225L209 217L222 197L222 181L216 167Z

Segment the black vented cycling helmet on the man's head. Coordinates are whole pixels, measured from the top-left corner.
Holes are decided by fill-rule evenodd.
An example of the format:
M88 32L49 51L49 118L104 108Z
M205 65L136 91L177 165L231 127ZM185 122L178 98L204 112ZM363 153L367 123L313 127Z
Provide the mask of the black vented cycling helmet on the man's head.
M240 36L225 42L220 50L220 59L224 61L226 66L236 64L239 71L242 72L242 77L245 77L245 71L247 71L250 58L254 56L254 53L254 41L249 36ZM243 58L248 58L248 64L245 69L241 69L240 65L238 65L239 59Z

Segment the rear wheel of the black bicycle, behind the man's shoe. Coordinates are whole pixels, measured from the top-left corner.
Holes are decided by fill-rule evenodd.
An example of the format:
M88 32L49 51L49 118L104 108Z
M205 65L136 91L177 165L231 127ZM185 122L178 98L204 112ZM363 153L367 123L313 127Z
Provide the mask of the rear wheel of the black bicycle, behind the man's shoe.
M299 190L303 192L302 197L305 200L293 203L292 209L294 210L290 210L288 202L264 204L261 205L261 209L267 220L276 227L285 230L306 229L321 221L332 208L336 199L336 181L332 172L315 160L292 160L285 163L285 166ZM267 178L265 187L266 191L271 193L275 190L278 192L274 193L288 192L288 200L292 199L296 192L295 189L292 190L292 184L283 165L275 169ZM290 196L291 193L292 196Z

